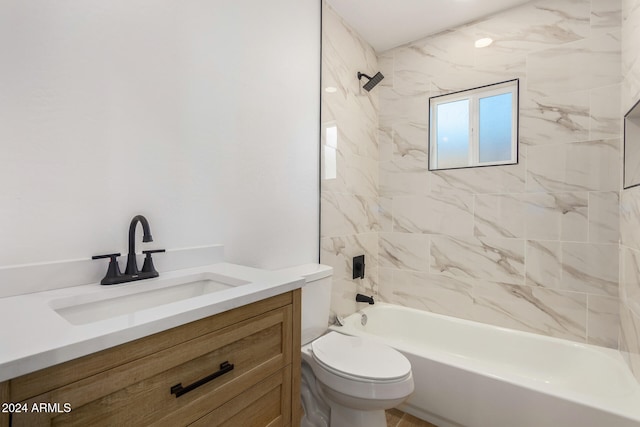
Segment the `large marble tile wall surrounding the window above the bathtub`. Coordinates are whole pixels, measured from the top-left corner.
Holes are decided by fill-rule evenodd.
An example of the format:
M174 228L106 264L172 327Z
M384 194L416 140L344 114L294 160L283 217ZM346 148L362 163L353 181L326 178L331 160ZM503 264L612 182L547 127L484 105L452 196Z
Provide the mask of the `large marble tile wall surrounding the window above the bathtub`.
M640 14L624 1L625 16ZM619 219L621 93L640 91L640 73L621 73L625 61L640 70L625 38L637 46L640 26L622 26L622 3L533 1L378 54L381 299L618 348L626 222L628 263L640 262L640 192ZM494 42L476 49L480 37ZM513 78L519 163L429 172L429 97ZM637 349L640 310L622 307Z

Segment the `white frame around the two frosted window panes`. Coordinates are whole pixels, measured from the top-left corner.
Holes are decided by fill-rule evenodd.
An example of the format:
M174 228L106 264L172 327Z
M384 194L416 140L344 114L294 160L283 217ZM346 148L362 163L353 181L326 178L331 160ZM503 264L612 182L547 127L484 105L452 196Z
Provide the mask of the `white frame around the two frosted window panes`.
M511 93L511 158L502 161L480 161L480 99ZM513 165L518 163L518 93L519 80L508 80L487 86L438 95L429 98L429 170L462 169L480 166ZM469 101L469 157L466 165L438 167L438 106L455 101Z

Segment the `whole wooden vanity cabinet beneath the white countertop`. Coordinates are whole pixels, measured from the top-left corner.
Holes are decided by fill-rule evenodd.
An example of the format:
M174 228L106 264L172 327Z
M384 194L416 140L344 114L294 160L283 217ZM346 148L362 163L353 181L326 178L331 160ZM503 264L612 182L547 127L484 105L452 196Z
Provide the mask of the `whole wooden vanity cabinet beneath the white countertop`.
M0 383L0 426L298 426L299 396L298 289Z

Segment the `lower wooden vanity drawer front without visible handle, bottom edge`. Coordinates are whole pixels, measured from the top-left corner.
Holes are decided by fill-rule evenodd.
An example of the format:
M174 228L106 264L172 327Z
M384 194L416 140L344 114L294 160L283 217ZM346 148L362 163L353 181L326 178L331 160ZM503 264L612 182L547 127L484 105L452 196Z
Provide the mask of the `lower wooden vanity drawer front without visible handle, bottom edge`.
M290 422L290 405L291 366L287 366L190 427L285 426Z

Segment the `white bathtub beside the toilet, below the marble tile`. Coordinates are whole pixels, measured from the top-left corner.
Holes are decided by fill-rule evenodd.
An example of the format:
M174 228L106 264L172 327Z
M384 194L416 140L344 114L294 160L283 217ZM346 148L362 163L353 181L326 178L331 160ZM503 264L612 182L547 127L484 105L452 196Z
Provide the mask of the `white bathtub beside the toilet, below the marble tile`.
M401 351L415 392L400 409L439 427L640 426L640 386L615 350L383 303L332 329Z

